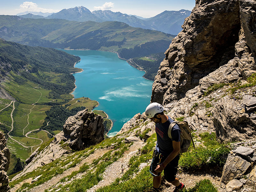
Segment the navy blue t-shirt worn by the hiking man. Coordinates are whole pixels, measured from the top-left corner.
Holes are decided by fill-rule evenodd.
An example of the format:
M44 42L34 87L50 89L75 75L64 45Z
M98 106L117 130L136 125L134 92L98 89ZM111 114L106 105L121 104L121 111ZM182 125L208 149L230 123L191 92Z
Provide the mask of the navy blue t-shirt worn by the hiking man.
M168 120L165 123L156 123L156 150L162 153L164 156L170 155L173 151L172 141L180 141L180 128L176 124L174 125L171 135L172 139L168 136L169 125L173 120L168 116Z

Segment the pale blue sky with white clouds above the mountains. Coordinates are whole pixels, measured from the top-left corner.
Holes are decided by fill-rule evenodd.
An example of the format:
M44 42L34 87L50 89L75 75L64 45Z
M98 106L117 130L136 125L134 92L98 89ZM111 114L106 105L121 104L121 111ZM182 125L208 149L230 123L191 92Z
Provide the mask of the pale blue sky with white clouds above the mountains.
M59 12L62 9L84 6L90 11L111 10L149 18L167 11L192 10L195 0L1 0L1 15L16 15L20 12Z

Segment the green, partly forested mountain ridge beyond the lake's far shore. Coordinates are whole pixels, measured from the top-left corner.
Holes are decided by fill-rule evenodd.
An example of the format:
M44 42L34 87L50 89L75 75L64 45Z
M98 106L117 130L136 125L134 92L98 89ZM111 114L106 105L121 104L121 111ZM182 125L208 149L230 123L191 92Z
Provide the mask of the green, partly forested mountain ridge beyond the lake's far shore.
M115 51L124 59L164 52L173 38L117 21L77 22L8 15L0 16L0 37L30 46Z

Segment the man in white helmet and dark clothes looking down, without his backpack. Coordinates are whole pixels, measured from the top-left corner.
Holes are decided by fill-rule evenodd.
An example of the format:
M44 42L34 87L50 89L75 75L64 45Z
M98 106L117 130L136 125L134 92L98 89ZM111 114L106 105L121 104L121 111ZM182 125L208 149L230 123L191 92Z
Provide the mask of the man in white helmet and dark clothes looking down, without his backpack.
M161 172L164 178L175 186L173 192L182 191L186 186L176 178L180 159L180 128L176 124L171 132L172 139L168 136L169 125L173 120L164 114L164 107L159 103L151 103L146 108L146 116L156 123L156 149L153 174L153 191L158 192L161 184ZM161 161L159 163L159 161ZM153 166L154 167L154 166Z

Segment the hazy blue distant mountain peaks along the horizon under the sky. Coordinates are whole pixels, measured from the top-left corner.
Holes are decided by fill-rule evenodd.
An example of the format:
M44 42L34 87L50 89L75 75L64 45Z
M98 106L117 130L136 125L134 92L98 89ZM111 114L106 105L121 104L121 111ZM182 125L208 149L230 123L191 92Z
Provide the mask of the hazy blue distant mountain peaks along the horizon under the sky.
M75 8L63 9L45 17L46 19L65 19L73 21L119 21L132 27L152 29L168 34L177 35L181 30L184 19L190 15L191 11L181 9L180 11L164 11L154 17L145 19L134 15L127 15L121 12L110 10L97 10L91 12L89 9L80 6ZM23 18L33 18L32 15L20 15ZM35 19L35 17L34 17Z

